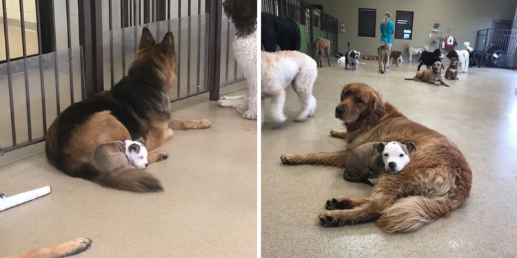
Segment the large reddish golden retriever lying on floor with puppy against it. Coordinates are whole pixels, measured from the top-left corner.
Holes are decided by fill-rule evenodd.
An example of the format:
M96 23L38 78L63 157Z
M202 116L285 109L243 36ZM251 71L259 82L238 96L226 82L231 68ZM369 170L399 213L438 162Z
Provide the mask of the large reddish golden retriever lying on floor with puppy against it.
M443 134L405 117L384 103L372 87L350 83L343 87L335 116L347 131L330 131L346 140L346 149L303 155L283 154L284 164L321 164L344 168L352 151L367 142L414 142L411 162L396 174L383 173L369 197L335 197L319 215L323 226L341 226L378 218L389 233L417 230L465 203L472 171L460 149ZM334 199L337 204L334 204Z

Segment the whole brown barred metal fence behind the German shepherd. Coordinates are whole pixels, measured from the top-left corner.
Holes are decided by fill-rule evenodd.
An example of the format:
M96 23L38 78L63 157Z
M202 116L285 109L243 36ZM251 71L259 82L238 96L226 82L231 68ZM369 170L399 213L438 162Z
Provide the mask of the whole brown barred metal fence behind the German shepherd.
M26 39L30 22L24 1L13 0L19 21L8 16L7 0L0 1L6 7L0 13L6 39L5 58L0 54L5 59L0 87L6 92L0 95L5 110L0 120L6 121L0 124L0 155L43 142L63 109L110 89L127 74L144 26L156 41L174 33L178 82L172 101L207 92L217 100L221 87L244 80L231 49L235 29L223 15L222 0L64 0L64 6L36 0L37 54L26 51L34 41ZM10 55L9 38L17 35L8 26L14 23L21 27L19 57Z

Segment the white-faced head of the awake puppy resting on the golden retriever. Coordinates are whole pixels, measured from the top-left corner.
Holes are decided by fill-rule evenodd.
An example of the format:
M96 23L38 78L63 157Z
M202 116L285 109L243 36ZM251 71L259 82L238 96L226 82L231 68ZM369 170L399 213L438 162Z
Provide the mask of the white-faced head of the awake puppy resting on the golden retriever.
M398 173L409 163L409 153L416 150L413 142L383 142L374 144L374 148L383 155L384 169L388 173Z

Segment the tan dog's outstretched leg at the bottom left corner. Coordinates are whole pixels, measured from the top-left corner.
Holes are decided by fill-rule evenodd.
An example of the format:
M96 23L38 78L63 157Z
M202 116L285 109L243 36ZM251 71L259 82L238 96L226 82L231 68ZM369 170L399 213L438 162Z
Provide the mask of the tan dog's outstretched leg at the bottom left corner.
M3 258L61 258L70 255L77 255L84 252L92 244L92 239L81 237L55 246L45 246L24 252L21 255L14 255Z

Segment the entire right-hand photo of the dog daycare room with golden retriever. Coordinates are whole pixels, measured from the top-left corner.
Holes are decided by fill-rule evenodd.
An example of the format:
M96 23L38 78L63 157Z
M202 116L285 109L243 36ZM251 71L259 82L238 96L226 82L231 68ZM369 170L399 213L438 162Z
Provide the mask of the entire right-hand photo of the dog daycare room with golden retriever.
M517 1L261 3L262 257L517 257Z

